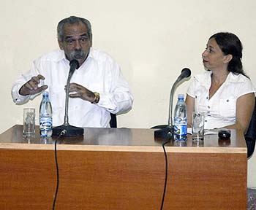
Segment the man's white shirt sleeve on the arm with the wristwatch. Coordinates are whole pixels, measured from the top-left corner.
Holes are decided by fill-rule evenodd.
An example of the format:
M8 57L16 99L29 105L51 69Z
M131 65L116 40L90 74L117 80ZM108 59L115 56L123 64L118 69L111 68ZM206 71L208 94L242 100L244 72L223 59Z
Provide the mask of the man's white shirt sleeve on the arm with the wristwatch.
M116 62L112 63L110 93L99 93L98 106L108 109L113 114L121 114L132 109L133 97L128 82L121 74Z

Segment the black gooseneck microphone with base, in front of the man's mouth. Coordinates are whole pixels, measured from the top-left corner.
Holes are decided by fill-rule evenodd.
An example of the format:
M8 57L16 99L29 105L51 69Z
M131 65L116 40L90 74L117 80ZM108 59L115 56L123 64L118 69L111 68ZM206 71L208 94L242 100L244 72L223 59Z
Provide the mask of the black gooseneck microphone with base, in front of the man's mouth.
M64 115L64 124L53 128L53 136L59 136L64 132L64 136L83 136L83 128L78 128L72 125L69 125L68 117L68 107L69 107L69 85L70 79L75 72L75 69L79 68L79 63L77 60L73 59L69 62L69 75L67 77L66 85L66 101L65 101L65 115Z

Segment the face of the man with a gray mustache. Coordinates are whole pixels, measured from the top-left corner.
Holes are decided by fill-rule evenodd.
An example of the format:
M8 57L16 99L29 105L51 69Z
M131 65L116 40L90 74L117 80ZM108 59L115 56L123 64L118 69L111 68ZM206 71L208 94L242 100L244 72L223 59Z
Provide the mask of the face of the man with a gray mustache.
M76 59L81 66L86 61L91 47L91 38L89 37L86 26L83 23L66 24L63 28L64 40L58 40L59 47L64 50L67 60Z

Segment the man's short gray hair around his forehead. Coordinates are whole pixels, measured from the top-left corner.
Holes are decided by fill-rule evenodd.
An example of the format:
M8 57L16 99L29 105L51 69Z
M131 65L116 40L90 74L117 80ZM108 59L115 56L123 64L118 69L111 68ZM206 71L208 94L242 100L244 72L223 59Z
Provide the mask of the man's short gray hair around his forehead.
M78 24L78 23L83 23L84 25L86 25L87 32L88 32L88 35L89 35L89 39L91 39L92 34L91 34L91 23L90 23L90 21L86 20L85 18L70 16L69 18L65 18L65 19L61 20L58 23L58 26L57 26L58 40L61 41L61 42L64 41L64 30L63 30L63 28L66 24L73 25L73 24Z

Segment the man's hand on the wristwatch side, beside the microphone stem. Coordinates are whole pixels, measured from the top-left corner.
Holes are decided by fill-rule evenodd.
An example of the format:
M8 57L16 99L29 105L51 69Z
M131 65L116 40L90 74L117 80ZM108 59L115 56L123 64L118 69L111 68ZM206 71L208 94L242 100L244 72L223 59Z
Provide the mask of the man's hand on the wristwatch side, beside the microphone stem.
M70 83L69 85L69 97L70 98L82 98L83 100L94 102L95 96L91 90L84 88L77 83Z

